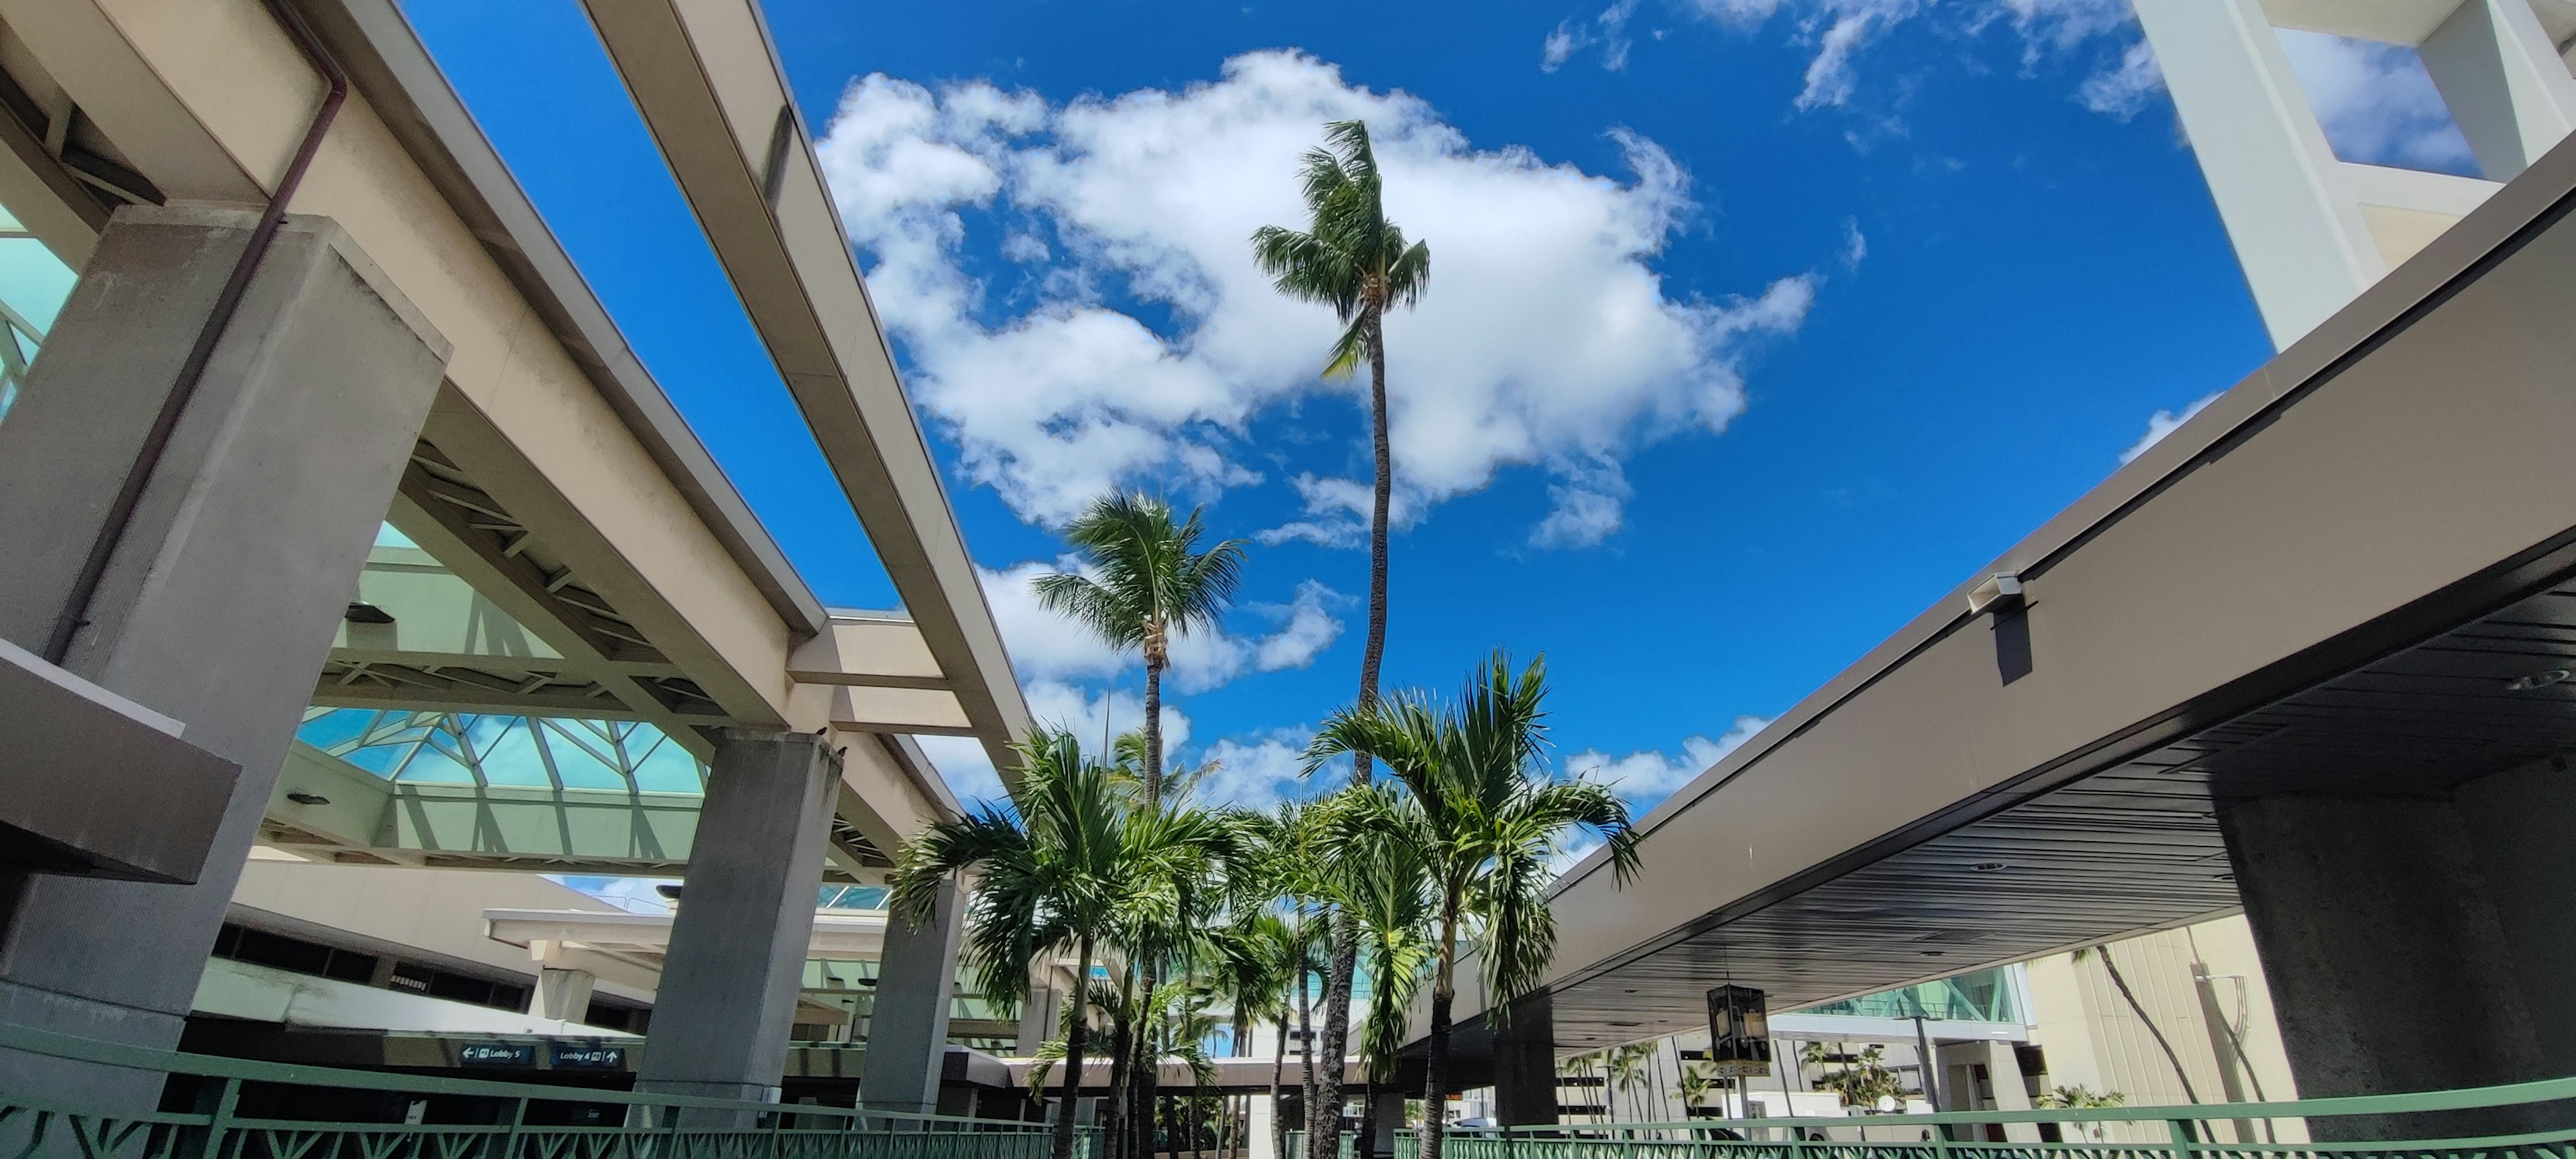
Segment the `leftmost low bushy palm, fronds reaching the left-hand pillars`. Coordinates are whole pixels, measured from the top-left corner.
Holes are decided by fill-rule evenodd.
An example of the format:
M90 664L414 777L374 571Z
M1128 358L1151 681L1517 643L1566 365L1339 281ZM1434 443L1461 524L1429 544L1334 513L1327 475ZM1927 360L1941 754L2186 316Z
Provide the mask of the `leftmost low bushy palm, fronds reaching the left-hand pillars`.
M938 822L904 845L886 878L889 909L907 922L930 919L956 873L979 871L966 907L966 966L976 989L1002 1002L1028 997L1028 966L1041 953L1074 950L1077 986L1118 919L1133 878L1133 824L1115 770L1082 757L1061 729L1030 729L1018 744L1023 775L1012 804L984 804L956 822ZM1064 1107L1054 1159L1074 1154L1074 1100L1082 1092L1084 994L1064 1030Z

